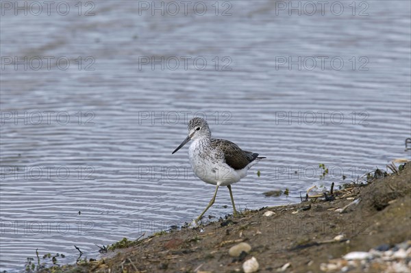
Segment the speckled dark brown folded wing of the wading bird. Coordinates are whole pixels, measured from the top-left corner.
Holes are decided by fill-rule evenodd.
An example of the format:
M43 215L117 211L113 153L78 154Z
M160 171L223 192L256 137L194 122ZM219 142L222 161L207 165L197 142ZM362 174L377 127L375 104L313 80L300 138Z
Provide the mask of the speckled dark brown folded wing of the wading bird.
M213 138L211 140L211 145L212 148L219 148L219 150L223 151L225 163L234 170L245 168L250 162L258 157L258 153L243 151L236 144L228 140Z

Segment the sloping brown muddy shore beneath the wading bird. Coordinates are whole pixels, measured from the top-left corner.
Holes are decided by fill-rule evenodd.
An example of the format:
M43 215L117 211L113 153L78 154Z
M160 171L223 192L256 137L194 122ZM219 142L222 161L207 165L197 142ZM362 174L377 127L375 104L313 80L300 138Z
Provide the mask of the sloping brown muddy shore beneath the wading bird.
M410 243L410 211L408 163L399 172L374 173L364 185L336 188L326 198L245 211L196 229L124 242L125 248L109 251L107 257L42 272L243 272L242 264L251 257L258 261L258 272L390 272L387 264L367 268L351 263L341 271L327 263L349 252ZM230 257L229 248L240 242L251 250ZM411 271L410 258L404 264Z

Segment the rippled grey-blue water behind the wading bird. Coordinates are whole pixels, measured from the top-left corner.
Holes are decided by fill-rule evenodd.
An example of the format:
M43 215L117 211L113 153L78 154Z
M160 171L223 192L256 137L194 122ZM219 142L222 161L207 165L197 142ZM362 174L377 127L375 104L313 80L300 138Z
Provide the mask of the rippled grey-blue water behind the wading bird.
M329 2L312 16L302 4L289 15L288 1L219 1L217 16L215 2L203 16L170 5L151 16L151 1L82 2L79 16L66 3L66 16L2 6L1 270L22 270L36 248L62 263L75 261L73 245L96 257L95 244L197 217L214 187L192 176L186 147L171 155L196 115L267 157L233 186L240 209L297 203L311 185L410 158L408 1ZM14 56L42 66L9 65ZM164 62L152 69L151 57ZM231 212L221 189L208 213Z

